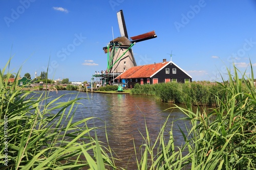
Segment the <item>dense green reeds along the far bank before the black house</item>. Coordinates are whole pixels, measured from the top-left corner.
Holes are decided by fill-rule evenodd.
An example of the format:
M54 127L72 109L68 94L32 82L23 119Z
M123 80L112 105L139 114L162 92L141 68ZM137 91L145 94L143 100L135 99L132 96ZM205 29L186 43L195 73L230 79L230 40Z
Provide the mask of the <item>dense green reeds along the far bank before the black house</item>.
M243 92L248 92L245 82L241 84ZM226 82L225 82L226 83ZM192 105L216 106L217 97L226 95L223 83L198 81L191 83L159 83L152 85L136 84L131 90L132 94L155 95L157 99L167 103L185 104L189 99Z

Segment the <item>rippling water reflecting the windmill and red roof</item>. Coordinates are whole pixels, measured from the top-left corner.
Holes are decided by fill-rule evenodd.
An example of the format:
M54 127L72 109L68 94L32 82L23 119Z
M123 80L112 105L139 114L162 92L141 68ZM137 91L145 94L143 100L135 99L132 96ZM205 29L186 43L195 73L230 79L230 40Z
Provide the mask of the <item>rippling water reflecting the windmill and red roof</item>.
M106 126L110 147L119 159L121 159L120 162L117 162L117 165L122 167L126 167L125 165L131 167L129 169L136 167L134 144L138 152L143 142L141 134L145 136L146 133L145 122L150 131L150 136L154 140L168 115L170 115L167 122L166 134L168 130L173 128L175 145L180 146L183 142L178 125L181 129L185 130L185 122L184 120L178 119L185 117L185 115L178 109L168 109L174 105L157 101L154 96L85 93L77 91L49 92L52 99L62 94L67 95L61 98L59 102L65 102L76 97L87 98L79 101L82 105L78 105L74 121L87 117L99 118L90 120L89 126L102 127L102 131L98 131L97 135L99 140L103 142L106 142L104 131L104 127ZM179 106L183 107L182 105ZM173 120L176 121L173 123Z

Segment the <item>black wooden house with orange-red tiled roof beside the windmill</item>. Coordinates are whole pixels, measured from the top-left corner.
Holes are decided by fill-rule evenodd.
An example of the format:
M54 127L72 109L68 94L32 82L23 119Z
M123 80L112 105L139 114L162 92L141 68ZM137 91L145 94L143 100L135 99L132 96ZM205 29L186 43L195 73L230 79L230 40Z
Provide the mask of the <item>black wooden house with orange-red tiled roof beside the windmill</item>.
M192 77L174 62L166 62L166 59L163 59L162 63L132 67L116 77L115 80L133 88L136 83L157 84L171 81L188 83L192 81Z

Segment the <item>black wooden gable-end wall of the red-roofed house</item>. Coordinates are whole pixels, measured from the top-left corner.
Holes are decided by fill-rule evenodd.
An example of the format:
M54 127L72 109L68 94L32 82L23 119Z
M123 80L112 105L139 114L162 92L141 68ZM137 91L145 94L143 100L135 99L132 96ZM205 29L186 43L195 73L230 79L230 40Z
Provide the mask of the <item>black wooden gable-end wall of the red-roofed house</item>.
M165 68L169 68L169 74L165 73ZM173 74L173 68L176 68L176 74ZM158 83L164 83L166 78L170 78L171 81L172 79L177 79L177 82L180 83L185 83L185 79L189 79L190 82L192 81L192 79L187 74L185 74L185 72L183 72L174 64L166 65L162 70L160 70L156 75L154 75L151 78L151 84L154 78L158 78Z

